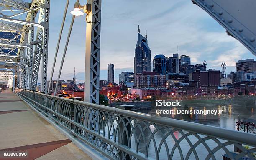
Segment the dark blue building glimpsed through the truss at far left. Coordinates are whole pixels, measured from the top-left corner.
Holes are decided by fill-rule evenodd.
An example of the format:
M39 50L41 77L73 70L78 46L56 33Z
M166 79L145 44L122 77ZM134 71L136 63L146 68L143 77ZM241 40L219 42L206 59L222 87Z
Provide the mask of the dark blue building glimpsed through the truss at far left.
M17 35L19 35L19 34L15 33L15 32L0 32L0 38L2 38L4 40L8 40L8 41L12 40L11 42L14 42L14 43L20 43L21 35L16 37ZM10 54L10 55L16 55L18 52L18 48L16 48L15 50L2 49L2 52L6 53L6 54Z

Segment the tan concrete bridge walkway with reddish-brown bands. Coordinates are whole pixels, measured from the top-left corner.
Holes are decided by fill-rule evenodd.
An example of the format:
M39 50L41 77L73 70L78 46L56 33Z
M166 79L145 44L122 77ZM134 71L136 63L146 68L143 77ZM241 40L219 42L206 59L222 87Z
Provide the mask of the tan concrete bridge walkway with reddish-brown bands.
M22 160L92 160L13 92L0 93L0 160L3 152L27 152ZM6 112L8 111L8 112Z

